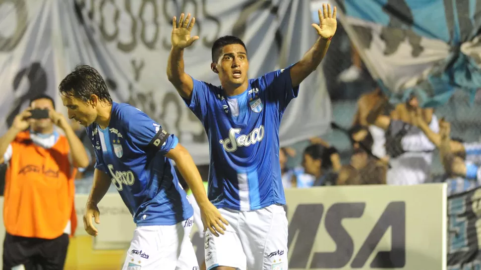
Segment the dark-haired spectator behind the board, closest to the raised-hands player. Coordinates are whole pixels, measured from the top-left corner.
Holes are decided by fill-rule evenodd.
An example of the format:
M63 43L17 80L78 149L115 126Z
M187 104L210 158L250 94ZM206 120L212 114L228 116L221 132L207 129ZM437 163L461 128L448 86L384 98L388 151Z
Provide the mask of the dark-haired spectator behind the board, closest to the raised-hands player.
M304 149L302 166L305 173L314 177L308 186L334 185L337 170L331 169L341 167L336 148L326 147L321 143L313 143ZM297 181L299 187L300 179L298 178Z

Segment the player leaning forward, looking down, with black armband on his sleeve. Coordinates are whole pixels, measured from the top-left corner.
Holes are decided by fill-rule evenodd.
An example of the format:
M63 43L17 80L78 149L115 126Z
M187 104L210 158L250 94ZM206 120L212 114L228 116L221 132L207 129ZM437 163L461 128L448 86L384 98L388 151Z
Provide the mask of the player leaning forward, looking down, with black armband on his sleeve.
M85 230L98 234L92 218L100 223L97 204L113 183L137 225L123 270L198 269L189 238L193 210L171 159L194 194L204 230L224 233L222 222L227 222L209 202L197 167L177 137L137 108L113 102L103 78L90 66L76 67L59 90L68 117L87 127L95 148Z

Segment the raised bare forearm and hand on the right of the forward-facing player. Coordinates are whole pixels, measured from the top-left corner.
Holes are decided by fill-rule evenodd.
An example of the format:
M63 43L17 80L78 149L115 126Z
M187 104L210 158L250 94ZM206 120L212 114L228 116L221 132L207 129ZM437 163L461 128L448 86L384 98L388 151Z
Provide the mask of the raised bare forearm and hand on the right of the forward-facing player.
M336 21L336 7L331 13L331 5L322 5L319 13L319 25L312 24L316 29L319 38L314 45L304 54L302 59L291 67L291 81L292 86L297 87L301 82L309 76L321 63L322 58L326 55L327 49L331 44L331 38L336 33L337 21Z

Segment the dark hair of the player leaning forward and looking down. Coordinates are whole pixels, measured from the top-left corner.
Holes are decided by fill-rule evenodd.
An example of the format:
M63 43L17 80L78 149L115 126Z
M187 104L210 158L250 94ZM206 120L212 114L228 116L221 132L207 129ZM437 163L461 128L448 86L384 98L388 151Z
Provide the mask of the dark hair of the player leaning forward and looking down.
M100 73L88 65L78 65L68 74L59 86L60 94L76 97L86 102L95 94L100 100L112 103L107 85Z

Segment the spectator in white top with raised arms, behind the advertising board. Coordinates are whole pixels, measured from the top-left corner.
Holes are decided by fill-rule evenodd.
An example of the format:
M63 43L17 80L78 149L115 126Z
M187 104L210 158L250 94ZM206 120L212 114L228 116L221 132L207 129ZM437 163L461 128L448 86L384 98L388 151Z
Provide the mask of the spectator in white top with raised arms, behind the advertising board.
M417 98L413 97L406 104L398 104L389 116L373 111L371 115L375 117L368 117L369 124L386 131L386 153L391 157L388 184L420 184L430 177L432 152L436 146L413 125L410 112L418 106ZM421 109L421 112L424 121L429 123L429 129L437 133L439 125L433 110L427 108Z

